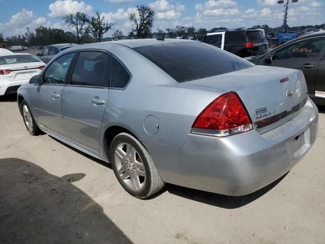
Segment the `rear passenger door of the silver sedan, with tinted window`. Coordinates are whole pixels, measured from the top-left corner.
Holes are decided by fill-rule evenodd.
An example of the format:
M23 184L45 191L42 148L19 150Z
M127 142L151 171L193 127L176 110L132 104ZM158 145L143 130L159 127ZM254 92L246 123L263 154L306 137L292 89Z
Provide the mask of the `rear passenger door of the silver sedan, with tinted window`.
M110 63L107 52L80 51L62 93L62 116L70 138L96 151L107 104Z

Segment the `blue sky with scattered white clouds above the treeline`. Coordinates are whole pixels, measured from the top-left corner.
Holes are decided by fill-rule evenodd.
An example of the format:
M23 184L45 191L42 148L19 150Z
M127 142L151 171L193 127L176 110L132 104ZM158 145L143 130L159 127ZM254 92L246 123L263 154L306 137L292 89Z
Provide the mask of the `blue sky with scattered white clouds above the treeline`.
M124 35L132 29L128 13L139 4L149 5L155 10L152 31L157 28L173 28L176 25L211 29L212 27L251 27L282 24L284 6L277 0L0 0L0 33L4 37L23 35L26 27L33 31L43 25L73 31L62 22L62 16L77 11L93 15L103 13L107 22L115 22L115 30ZM289 2L288 25L325 23L325 0L299 0ZM113 31L104 35L111 37Z

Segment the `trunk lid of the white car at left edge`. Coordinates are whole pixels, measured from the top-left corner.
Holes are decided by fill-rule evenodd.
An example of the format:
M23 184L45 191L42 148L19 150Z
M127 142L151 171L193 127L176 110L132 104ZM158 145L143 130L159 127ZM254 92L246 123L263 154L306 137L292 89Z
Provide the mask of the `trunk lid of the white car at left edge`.
M7 80L25 80L40 72L41 63L22 63L11 65L0 65L0 70L11 70L9 74L5 74Z

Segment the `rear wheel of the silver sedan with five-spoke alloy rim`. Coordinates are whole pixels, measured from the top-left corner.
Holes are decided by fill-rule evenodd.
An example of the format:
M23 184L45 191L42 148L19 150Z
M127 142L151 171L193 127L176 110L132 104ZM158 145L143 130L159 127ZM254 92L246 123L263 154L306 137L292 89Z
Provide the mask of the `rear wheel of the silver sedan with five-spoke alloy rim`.
M128 133L115 136L110 156L115 176L129 194L144 199L164 187L165 182L148 151L134 136Z

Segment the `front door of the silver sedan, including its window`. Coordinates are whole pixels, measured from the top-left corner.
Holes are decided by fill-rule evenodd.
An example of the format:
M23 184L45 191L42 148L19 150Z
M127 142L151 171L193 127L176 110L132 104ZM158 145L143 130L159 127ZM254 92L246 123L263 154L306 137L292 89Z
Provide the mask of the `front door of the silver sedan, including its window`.
M51 63L43 73L43 84L33 89L32 105L35 118L42 126L67 136L61 113L61 95L75 53L64 54Z

